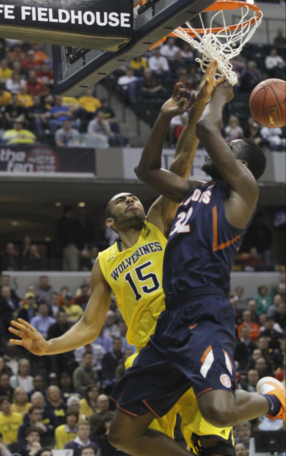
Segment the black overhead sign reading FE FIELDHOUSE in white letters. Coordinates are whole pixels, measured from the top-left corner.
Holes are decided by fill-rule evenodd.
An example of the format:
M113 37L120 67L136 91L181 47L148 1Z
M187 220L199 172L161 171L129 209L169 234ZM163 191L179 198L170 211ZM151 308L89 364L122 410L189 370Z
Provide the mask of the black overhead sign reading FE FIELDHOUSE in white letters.
M5 38L116 51L132 33L132 0L0 3L0 36Z

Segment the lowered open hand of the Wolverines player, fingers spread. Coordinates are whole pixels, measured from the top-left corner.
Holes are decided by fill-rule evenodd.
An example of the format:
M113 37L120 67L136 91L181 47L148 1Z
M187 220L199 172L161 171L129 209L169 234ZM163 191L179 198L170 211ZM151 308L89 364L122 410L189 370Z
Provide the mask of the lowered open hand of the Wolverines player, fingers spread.
M34 353L34 355L48 354L47 341L33 326L30 325L30 323L23 320L22 318L18 318L17 321L12 320L11 325L15 326L15 328L10 326L9 331L20 337L21 340L9 339L9 342L13 343L14 345L21 345L22 347L25 347L31 353Z

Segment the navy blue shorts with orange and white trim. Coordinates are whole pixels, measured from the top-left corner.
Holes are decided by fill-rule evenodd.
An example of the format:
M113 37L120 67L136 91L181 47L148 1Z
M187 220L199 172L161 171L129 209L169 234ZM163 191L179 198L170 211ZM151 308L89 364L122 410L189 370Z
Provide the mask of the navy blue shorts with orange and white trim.
M113 389L120 410L158 418L191 387L197 397L235 389L235 312L222 290L211 290L166 303L155 334Z

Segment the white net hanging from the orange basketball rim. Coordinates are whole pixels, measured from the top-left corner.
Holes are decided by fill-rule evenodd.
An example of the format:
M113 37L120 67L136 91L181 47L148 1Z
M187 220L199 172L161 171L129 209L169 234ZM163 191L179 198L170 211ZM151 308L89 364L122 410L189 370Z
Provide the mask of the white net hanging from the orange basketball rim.
M176 36L187 41L192 47L201 52L202 56L197 57L196 62L199 62L203 72L205 72L209 63L216 59L218 62L218 73L216 76L226 76L231 85L237 83L237 76L234 71L232 71L232 64L229 60L239 55L244 44L250 40L262 20L262 12L260 12L259 15L258 12L250 10L247 4L239 9L241 10L241 19L239 23L236 24L234 30L230 30L229 26L226 25L224 10L219 10L213 15L208 29L204 26L202 15L199 14L202 22L202 29L204 31L202 35L199 34L189 22L186 22L186 24L195 37L188 35L187 31L182 27L178 27L173 32ZM249 17L250 11L253 12L252 24L250 23ZM220 31L214 33L213 30L216 27L213 27L213 23L215 19L218 19L218 16L222 20L223 27Z

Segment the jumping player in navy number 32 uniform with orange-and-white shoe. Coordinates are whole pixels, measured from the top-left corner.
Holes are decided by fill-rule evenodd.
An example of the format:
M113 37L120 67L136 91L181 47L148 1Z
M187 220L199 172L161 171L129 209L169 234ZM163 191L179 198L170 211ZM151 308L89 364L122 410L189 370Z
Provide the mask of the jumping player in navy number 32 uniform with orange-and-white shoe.
M256 181L266 160L254 142L226 144L220 134L222 110L232 98L228 82L218 85L197 124L197 136L210 156L203 166L210 182L187 181L161 169L161 149L154 147L153 139L162 148L170 125L170 116L163 112L135 168L142 181L181 205L163 262L166 311L111 395L118 409L109 441L131 455L189 454L166 435L147 428L190 386L204 419L214 426L236 425L265 413L270 419L285 420L285 390L275 378L262 378L258 393L235 389L235 312L228 300L229 276L255 213ZM215 438L198 451L203 456L235 455L231 444Z

